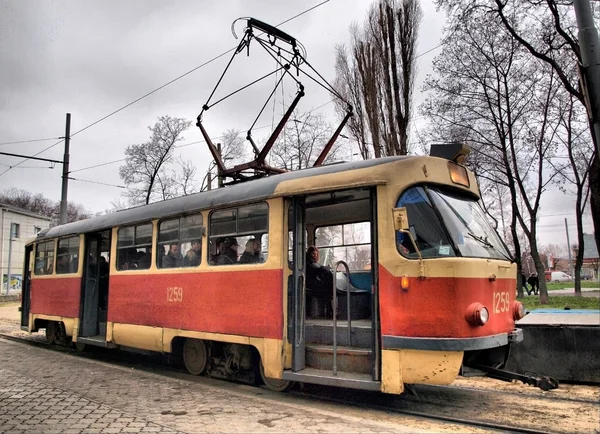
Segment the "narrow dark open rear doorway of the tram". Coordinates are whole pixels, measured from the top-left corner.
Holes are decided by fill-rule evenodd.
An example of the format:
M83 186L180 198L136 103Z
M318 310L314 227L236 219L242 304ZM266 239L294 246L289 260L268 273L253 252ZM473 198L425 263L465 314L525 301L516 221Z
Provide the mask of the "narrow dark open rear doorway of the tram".
M106 346L110 231L85 235L78 343Z

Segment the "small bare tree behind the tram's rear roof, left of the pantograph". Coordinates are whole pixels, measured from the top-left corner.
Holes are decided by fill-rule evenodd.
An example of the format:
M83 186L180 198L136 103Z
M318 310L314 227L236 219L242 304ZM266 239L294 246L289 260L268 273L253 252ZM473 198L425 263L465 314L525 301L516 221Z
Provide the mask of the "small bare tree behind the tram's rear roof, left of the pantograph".
M166 165L173 158L173 149L183 140L181 133L191 125L190 121L161 116L146 143L130 145L125 150L125 165L119 167L119 175L127 186L130 204L148 204L152 199L173 196L173 178Z

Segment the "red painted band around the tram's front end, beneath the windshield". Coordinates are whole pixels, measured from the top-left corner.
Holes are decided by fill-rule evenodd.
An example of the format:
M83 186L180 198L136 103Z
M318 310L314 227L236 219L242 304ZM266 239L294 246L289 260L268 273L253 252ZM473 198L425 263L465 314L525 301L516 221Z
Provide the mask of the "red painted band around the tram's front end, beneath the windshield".
M379 310L381 334L388 336L465 338L511 332L515 279L411 277L408 291L379 266ZM494 292L508 293L508 309L494 312ZM472 326L465 319L469 305L479 302L490 313L484 326ZM498 304L501 307L501 304Z

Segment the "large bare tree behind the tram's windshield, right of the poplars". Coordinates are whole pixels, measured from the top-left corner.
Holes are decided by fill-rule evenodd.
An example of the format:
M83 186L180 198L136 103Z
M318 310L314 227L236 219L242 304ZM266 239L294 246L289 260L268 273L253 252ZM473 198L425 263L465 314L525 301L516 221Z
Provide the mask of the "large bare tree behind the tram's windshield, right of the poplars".
M433 121L431 136L443 140L457 129L469 132L469 164L480 179L510 193L515 258L522 257L522 231L535 269L543 275L537 218L541 196L558 173L547 164L558 142L551 104L559 89L556 75L528 56L500 20L484 10L471 9L461 21L451 22L445 42L434 60L436 74L426 82L431 95L423 111ZM519 275L521 270L519 263ZM544 281L540 297L547 301Z

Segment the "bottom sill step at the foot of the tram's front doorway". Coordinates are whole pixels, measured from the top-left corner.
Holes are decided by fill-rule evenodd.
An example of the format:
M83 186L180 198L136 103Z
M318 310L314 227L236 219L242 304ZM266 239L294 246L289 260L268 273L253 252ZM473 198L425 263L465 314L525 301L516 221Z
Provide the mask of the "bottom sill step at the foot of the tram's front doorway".
M298 372L283 371L283 379L350 389L381 390L381 383L373 381L370 374L356 374L353 372L338 371L337 375L333 375L331 371L306 368Z

